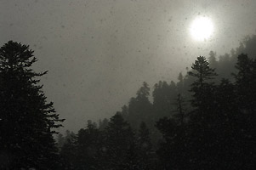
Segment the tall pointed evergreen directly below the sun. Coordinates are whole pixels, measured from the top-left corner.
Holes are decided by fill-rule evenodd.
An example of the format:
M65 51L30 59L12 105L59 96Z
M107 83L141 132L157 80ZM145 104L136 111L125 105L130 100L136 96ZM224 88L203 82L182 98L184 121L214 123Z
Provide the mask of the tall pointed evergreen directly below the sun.
M217 74L209 67L208 61L203 56L197 57L192 65L192 71L188 72L195 81L191 84L192 99L191 105L191 162L193 168L203 169L212 166L214 162L214 93L215 86L210 80Z

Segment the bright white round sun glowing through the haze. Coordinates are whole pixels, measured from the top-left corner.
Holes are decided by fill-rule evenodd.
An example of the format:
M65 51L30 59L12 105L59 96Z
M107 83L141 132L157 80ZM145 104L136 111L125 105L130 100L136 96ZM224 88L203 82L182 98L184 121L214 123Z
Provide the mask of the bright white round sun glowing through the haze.
M213 35L213 22L208 17L197 17L193 20L190 31L196 41L207 40Z

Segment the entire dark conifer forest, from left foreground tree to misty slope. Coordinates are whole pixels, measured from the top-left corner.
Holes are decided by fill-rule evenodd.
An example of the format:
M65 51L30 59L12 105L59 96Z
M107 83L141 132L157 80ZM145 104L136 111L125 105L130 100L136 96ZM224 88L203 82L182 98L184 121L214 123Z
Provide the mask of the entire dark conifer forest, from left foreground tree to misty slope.
M62 134L40 83L47 71L32 69L28 45L9 41L0 48L0 168L255 169L255 45L250 36L229 54L198 56L178 81L152 91L143 82L111 118Z

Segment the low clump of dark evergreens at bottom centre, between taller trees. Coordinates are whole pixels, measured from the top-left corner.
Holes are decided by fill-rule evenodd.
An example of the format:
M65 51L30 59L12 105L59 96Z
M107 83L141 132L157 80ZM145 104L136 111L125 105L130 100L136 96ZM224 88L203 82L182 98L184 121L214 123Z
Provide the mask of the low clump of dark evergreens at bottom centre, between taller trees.
M92 123L80 129L74 140L62 146L60 156L65 169L153 170L157 160L149 135L144 122L134 133L117 112L105 129Z

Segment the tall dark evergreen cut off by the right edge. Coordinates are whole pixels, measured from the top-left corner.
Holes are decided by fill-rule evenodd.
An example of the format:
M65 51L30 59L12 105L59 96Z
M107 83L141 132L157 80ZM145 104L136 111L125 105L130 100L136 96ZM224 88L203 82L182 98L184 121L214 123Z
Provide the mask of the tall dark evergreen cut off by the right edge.
M239 116L239 147L240 158L248 167L255 168L256 152L256 59L250 59L247 54L241 54L237 58L237 73L235 77L236 104ZM241 166L241 165L240 165Z

